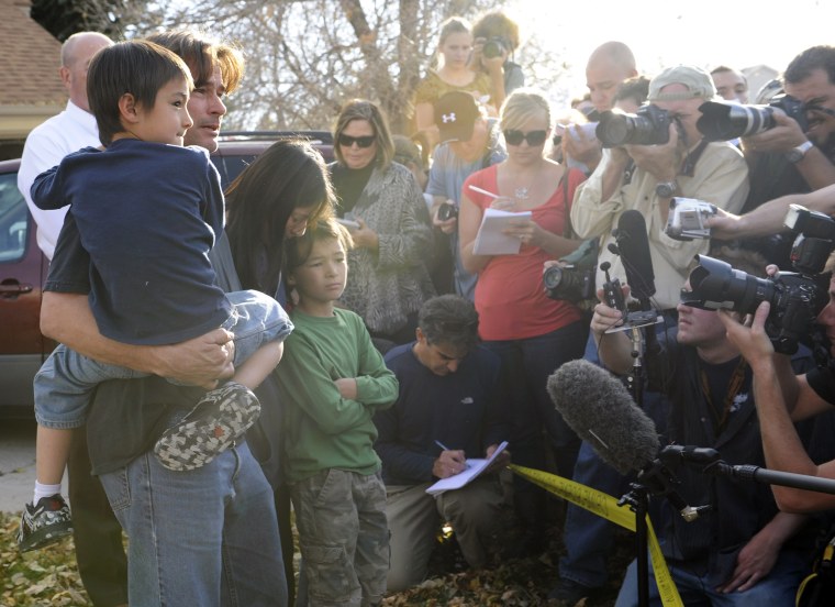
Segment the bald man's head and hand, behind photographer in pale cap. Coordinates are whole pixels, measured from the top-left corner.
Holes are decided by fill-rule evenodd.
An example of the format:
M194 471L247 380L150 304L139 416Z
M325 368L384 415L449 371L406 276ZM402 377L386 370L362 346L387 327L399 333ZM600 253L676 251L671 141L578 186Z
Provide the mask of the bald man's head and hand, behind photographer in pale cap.
M594 109L598 112L611 110L617 87L627 78L637 75L635 55L624 43L610 41L598 46L586 65L586 86L589 88ZM588 173L593 172L600 164L602 150L597 139L568 130L563 141L565 154L586 165Z

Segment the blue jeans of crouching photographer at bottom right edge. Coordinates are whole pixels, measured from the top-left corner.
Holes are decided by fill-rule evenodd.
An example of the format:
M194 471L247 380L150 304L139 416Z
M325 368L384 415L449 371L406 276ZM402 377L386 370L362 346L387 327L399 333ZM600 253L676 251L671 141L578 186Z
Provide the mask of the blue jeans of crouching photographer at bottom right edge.
M708 581L708 575L698 575L673 563L667 563L676 583L681 602L688 607L762 607L794 605L794 595L803 576L810 571L811 555L804 551L782 550L771 572L745 592L717 593ZM658 586L655 584L653 565L649 563L649 604L661 605ZM626 569L615 607L637 607L638 583L637 561Z

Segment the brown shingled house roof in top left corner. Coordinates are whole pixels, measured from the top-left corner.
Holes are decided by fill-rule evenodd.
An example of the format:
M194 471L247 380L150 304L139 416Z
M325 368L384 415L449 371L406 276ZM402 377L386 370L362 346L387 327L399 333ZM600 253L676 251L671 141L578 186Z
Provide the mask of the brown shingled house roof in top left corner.
M29 0L0 0L0 106L64 106L60 43L30 18Z

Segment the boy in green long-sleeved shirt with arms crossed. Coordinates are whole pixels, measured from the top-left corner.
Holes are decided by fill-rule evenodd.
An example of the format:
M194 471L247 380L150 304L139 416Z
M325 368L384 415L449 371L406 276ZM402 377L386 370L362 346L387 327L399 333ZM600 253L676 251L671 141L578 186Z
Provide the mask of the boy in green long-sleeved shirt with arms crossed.
M287 284L299 302L277 374L311 607L379 605L389 569L372 418L397 400L398 382L363 319L334 307L350 246L347 230L326 220L292 239L287 252Z

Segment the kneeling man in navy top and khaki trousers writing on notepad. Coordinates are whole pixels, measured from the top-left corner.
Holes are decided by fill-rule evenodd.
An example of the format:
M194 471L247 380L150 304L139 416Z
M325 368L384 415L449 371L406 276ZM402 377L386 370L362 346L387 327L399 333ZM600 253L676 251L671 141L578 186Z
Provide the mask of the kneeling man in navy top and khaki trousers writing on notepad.
M426 494L436 479L464 471L466 456L489 457L506 437L500 361L478 345L476 308L456 295L430 299L415 333L416 341L386 355L400 395L374 420L391 529L390 592L423 581L438 527L446 521L467 563L488 565L503 501L494 474L435 497ZM502 453L496 468L508 460Z

